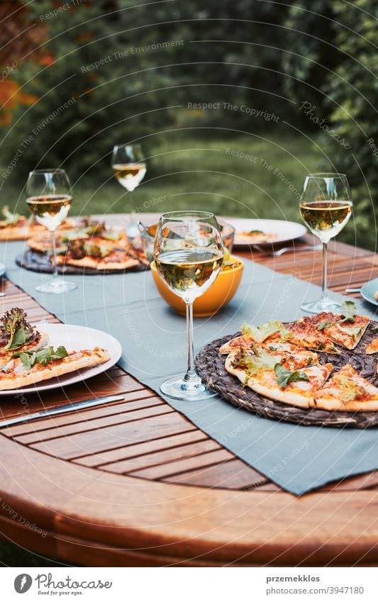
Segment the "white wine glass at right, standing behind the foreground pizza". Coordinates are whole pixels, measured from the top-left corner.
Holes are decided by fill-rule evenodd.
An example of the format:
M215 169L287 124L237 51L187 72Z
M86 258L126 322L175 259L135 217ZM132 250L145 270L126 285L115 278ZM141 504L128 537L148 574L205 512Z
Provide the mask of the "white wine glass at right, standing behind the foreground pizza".
M308 174L304 180L299 203L301 218L308 230L323 243L323 285L316 301L304 303L301 309L308 313L338 311L340 303L328 296L327 245L343 230L352 215L352 195L344 174Z

